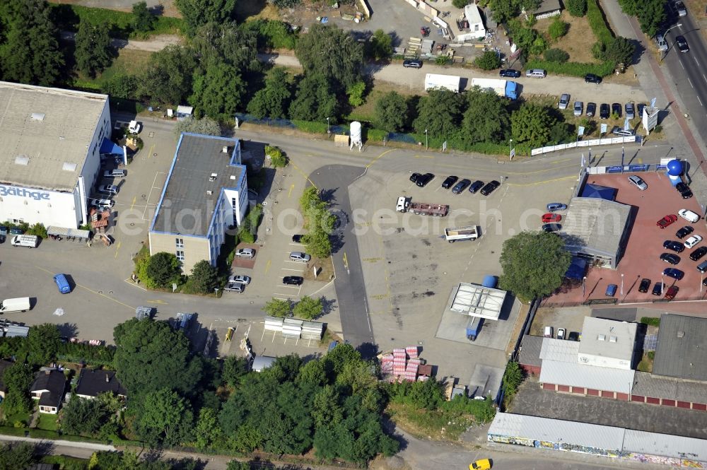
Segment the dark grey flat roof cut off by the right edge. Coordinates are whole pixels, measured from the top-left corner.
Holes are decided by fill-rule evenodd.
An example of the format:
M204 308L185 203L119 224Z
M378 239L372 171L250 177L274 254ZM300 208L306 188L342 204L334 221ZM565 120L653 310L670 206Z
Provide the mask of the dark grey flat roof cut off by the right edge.
M664 314L660 317L653 373L707 380L707 319Z

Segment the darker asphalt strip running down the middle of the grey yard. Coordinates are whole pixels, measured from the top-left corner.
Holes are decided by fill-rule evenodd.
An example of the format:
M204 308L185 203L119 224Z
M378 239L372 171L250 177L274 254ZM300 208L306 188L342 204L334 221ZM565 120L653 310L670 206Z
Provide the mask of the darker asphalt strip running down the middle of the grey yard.
M348 165L327 165L318 168L310 175L310 180L327 194L332 204L332 213L339 218L339 226L334 230L334 269L341 327L344 338L354 346L375 345L373 327L370 324L366 305L366 283L363 280L361 257L358 255L358 242L352 233L351 203L349 202L349 184L366 172L365 168ZM364 356L375 356L375 347L362 348Z

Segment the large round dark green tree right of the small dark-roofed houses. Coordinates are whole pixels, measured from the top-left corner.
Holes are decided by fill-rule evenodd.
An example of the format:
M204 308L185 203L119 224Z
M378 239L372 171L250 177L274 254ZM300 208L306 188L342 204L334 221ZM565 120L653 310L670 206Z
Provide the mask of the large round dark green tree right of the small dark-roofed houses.
M113 330L113 362L130 394L169 387L181 394L197 392L201 362L192 359L189 340L167 322L129 319Z

